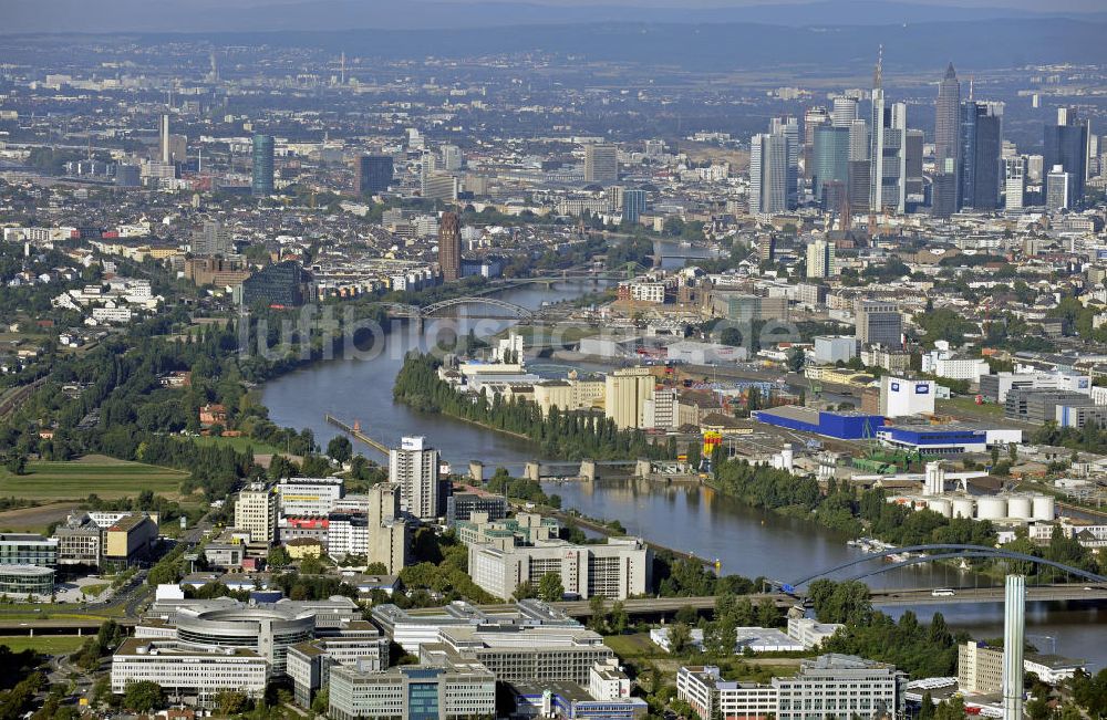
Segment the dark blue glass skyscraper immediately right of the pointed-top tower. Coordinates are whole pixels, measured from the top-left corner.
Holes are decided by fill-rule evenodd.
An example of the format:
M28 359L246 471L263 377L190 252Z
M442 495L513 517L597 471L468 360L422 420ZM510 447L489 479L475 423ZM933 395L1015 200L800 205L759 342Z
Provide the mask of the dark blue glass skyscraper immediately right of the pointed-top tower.
M961 207L995 210L1000 204L1002 105L961 104Z

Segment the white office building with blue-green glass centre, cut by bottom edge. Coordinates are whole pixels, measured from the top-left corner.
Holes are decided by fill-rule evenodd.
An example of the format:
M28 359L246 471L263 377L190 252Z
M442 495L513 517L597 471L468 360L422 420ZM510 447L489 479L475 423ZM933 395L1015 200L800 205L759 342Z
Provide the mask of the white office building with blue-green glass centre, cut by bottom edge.
M446 667L359 666L330 672L327 716L333 720L463 720L496 714L497 677L477 662Z

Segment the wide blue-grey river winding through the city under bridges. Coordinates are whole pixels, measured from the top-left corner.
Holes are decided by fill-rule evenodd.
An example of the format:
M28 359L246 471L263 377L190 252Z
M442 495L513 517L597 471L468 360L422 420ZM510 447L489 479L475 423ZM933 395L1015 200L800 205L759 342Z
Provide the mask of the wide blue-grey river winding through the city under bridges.
M537 309L546 302L594 290L591 282L568 282L549 288L511 289L497 296ZM426 436L457 472L465 472L469 460L479 459L489 472L503 466L521 473L525 462L538 459L538 450L531 444L442 415L416 413L392 399L393 379L407 352L426 352L444 338L448 343L469 328L484 336L508 325L506 320L475 320L464 315L427 322L422 332L411 324L396 323L389 335L368 348L364 357L320 362L268 383L262 401L275 422L310 428L323 447L338 434L323 419L329 413L348 422L359 420L364 432L389 446L396 445L403 435ZM370 459L384 460L368 447L356 450ZM819 525L752 509L697 486L665 487L641 480L601 479L592 484L548 483L547 492L560 494L567 508L619 520L632 534L702 557L718 559L725 573L790 582L860 554L846 545L845 536ZM989 581L944 566L920 566L873 576L867 582L879 587L956 587ZM942 612L951 626L964 628L977 638L1003 633L1000 605L915 608L922 618L935 611ZM899 612L902 611L894 609L892 614ZM1026 628L1031 641L1044 651L1055 649L1062 655L1085 658L1095 668L1107 665L1107 608L1076 603L1031 603Z

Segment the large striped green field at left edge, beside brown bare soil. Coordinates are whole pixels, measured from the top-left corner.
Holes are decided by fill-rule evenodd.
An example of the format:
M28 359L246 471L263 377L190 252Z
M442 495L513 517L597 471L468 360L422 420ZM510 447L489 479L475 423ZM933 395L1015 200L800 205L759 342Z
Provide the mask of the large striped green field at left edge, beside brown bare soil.
M142 490L176 495L188 473L103 456L69 462L29 462L27 474L0 469L0 495L28 500L83 499L96 493L105 500L127 498Z

